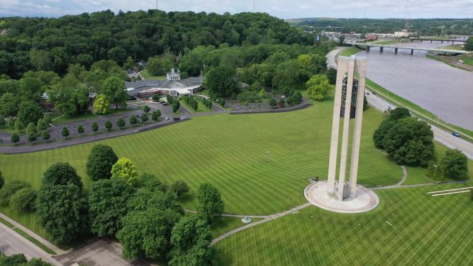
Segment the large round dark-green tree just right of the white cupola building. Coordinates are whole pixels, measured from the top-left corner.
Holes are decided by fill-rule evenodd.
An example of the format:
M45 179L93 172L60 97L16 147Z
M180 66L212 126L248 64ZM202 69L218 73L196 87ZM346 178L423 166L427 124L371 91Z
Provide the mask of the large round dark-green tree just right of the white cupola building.
M215 97L230 97L233 93L238 94L239 88L236 84L236 70L228 66L217 66L212 68L205 76L205 86Z

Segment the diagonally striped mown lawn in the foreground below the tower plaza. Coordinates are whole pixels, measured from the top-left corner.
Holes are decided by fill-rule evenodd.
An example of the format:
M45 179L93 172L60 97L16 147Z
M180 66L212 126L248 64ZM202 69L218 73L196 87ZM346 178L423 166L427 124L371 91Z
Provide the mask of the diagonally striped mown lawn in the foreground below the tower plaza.
M470 194L427 194L472 185L376 191L380 206L362 214L308 207L225 238L217 255L225 266L472 265Z

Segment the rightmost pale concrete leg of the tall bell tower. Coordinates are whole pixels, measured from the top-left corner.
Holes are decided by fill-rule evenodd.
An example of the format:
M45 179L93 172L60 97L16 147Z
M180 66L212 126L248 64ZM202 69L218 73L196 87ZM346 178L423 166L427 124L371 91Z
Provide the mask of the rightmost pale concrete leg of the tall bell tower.
M366 59L358 60L355 64L355 72L358 73L358 93L356 95L355 128L353 129L353 146L351 148L350 165L350 196L355 197L356 181L358 179L358 162L360 159L360 140L363 120L364 104L364 79L366 76Z

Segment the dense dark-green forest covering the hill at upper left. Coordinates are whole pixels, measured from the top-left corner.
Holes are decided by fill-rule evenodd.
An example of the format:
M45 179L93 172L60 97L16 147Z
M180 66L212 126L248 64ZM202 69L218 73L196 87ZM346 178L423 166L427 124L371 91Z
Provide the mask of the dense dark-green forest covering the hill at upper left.
M148 59L166 51L228 44L313 44L313 36L266 13L230 15L205 12L110 10L59 18L3 18L0 30L0 75L19 78L28 70L53 70L64 75L70 64L89 68L113 59L120 66L128 56Z

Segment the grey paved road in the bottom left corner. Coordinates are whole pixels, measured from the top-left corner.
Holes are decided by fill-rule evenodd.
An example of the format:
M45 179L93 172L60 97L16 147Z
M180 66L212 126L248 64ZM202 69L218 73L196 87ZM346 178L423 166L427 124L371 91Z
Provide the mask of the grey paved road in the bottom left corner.
M16 231L11 230L3 223L0 223L0 249L8 256L13 254L25 254L26 258L41 258L53 265L62 266L55 259L51 258L44 250L20 236Z

